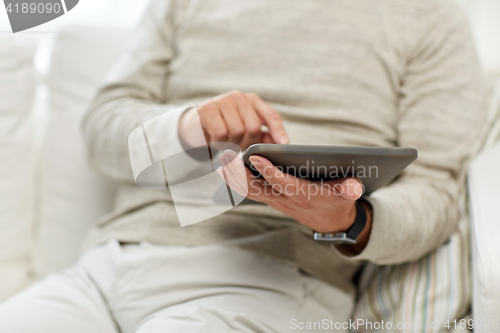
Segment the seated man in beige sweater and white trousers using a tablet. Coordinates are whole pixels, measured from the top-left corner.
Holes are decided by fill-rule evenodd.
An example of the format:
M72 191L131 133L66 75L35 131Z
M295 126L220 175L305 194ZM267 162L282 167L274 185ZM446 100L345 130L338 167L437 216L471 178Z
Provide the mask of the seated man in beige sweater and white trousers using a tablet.
M0 307L0 331L347 332L365 261L415 261L455 232L481 88L452 0L154 1L84 122L91 163L122 183L116 209L74 268ZM339 195L283 193L306 181L255 157L257 185L274 192L248 196L266 205L181 228L169 191L138 188L130 166L128 136L159 115L171 151L205 137L407 146L419 159L358 201L355 179L325 185ZM184 158L186 174L203 163ZM234 188L232 170L220 173ZM359 209L355 245L312 239L346 231Z

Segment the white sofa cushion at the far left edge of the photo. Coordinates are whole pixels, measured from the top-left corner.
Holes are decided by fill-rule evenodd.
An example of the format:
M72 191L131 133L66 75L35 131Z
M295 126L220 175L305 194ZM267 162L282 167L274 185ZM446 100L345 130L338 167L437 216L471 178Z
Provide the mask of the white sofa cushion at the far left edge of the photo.
M0 299L23 287L27 277L34 219L34 51L29 36L0 35Z

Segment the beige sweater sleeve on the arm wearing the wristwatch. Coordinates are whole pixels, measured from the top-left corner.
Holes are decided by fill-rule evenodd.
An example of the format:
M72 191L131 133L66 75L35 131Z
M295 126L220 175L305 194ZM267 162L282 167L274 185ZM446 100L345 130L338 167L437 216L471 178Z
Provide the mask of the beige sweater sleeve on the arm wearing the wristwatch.
M461 9L434 3L417 14L399 99L398 145L417 148L419 158L367 197L370 239L350 260L413 261L457 228L465 168L484 131L483 81Z

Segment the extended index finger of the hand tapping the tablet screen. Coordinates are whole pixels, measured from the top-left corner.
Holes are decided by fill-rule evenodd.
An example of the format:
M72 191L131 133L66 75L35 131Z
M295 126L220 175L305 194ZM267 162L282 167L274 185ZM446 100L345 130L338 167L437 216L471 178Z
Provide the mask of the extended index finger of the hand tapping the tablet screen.
M264 125L269 128L269 134L271 134L274 143L290 143L288 134L283 126L283 121L281 120L281 115L264 102L257 94L249 93L247 96L252 101Z

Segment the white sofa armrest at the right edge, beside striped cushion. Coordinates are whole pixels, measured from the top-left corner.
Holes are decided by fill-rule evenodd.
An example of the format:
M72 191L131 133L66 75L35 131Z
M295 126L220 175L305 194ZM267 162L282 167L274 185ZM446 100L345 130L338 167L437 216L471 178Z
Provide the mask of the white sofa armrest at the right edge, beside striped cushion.
M500 144L481 153L469 171L472 217L474 332L500 325ZM497 328L500 330L500 327Z

